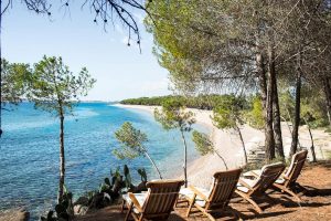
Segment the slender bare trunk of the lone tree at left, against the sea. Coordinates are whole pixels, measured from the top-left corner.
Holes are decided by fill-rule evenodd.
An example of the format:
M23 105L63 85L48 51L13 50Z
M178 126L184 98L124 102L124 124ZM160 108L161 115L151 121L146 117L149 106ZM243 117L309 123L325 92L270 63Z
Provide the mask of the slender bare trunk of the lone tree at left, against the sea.
M65 175L65 158L64 158L64 116L60 116L60 181L57 203L62 201L63 188L64 188L64 175Z

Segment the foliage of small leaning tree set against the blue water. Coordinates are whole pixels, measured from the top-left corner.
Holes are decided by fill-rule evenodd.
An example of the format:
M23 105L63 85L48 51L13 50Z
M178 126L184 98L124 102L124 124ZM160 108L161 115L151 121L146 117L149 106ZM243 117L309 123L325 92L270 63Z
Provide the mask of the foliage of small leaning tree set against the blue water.
M113 154L119 159L134 159L145 155L146 149L143 144L148 141L147 135L136 129L131 123L124 123L121 127L115 131L115 137L121 147L114 149Z

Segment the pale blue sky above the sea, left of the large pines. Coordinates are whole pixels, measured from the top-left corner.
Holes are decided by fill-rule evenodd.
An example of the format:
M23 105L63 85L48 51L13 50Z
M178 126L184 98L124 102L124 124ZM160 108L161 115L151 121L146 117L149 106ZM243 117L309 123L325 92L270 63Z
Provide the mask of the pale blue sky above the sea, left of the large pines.
M60 6L52 7L52 19L28 11L20 1L2 18L2 55L10 62L35 63L42 56L62 56L73 72L86 66L97 80L84 99L119 101L128 97L166 95L169 80L152 54L152 35L145 31L142 13L136 13L142 35L140 54L118 20L115 25L96 25L89 8L79 1L70 14Z

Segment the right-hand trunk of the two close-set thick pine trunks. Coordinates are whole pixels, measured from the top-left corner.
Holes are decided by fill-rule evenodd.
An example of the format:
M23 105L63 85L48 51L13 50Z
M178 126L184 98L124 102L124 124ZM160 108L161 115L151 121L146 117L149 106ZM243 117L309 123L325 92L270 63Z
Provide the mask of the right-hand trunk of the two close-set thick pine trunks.
M277 157L281 159L284 156L284 147L282 147L282 136L281 136L281 124L280 124L280 110L279 110L279 101L278 101L278 90L277 90L277 78L276 78L276 67L275 67L275 57L274 53L270 52L269 55L269 72L270 76L273 76L274 81L274 95L273 95L273 108L274 108L274 133L275 133L275 148Z

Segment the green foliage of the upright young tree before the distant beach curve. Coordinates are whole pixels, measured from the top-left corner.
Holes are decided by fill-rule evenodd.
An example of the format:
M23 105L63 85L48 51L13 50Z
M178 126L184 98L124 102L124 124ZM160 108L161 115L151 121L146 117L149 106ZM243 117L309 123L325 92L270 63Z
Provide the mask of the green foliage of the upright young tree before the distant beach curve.
M181 131L191 131L195 123L194 114L185 110L182 102L169 99L162 103L162 109L154 109L154 118L166 130L180 129Z

